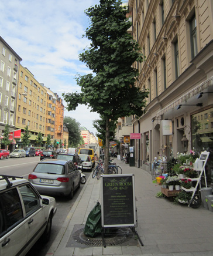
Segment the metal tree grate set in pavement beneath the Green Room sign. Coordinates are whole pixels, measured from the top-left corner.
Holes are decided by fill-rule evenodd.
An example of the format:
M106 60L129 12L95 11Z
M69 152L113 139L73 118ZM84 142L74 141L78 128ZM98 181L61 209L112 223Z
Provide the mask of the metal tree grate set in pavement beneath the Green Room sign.
M78 227L76 227L78 226ZM80 227L81 226L81 227ZM104 235L104 241L107 246L133 246L138 245L135 234L129 228L118 228L111 234ZM101 247L104 246L102 236L87 237L84 235L84 225L75 225L73 233L66 247Z

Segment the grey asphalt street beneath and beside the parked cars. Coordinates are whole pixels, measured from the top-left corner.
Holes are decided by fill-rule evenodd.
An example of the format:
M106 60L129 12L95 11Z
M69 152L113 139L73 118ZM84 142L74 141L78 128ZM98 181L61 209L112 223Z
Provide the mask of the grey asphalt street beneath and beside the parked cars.
M0 160L0 174L8 174L11 176L21 176L23 178L28 178L28 174L33 170L36 164L39 162L40 157L25 157L25 158L9 158ZM88 178L90 172L84 172L85 176ZM78 194L83 188L84 184L81 184L80 189L75 191L74 197L72 200L67 200L63 197L56 198L56 207L57 212L53 218L53 223L51 227L51 236L47 244L42 244L37 242L32 249L28 252L28 256L44 256L49 250L54 238L62 227L64 220L66 220L67 214L70 212L71 207L73 206Z

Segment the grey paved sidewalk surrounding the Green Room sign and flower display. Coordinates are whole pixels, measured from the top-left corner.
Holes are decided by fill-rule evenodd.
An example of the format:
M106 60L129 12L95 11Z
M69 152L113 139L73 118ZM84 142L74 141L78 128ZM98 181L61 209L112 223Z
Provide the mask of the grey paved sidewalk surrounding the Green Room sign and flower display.
M167 198L156 198L160 186L152 183L145 170L129 167L120 160L123 173L135 174L138 232L144 246L67 247L74 225L83 225L100 199L101 180L88 178L80 195L64 221L63 227L46 255L213 255L213 213L200 206L193 209L174 204Z

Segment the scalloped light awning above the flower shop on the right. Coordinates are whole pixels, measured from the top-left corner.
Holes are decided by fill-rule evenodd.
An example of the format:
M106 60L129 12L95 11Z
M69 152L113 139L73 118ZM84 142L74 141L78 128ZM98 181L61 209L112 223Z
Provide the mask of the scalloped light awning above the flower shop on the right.
M169 110L176 108L178 105L181 105L181 103L184 102L185 100L190 99L191 97L197 95L198 93L202 92L203 90L207 89L209 86L212 86L212 85L213 85L213 76L205 80L205 82L202 82L200 85L194 87L193 89L185 93L183 96L179 97L173 103L170 103L168 106L161 109L159 112L157 112L156 117L160 117L162 114L168 112Z

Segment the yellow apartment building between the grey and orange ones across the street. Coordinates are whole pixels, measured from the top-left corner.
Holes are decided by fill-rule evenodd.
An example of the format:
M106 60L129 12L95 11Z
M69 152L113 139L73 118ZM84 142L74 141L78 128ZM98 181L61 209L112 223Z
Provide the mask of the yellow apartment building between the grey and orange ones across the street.
M42 133L43 142L45 142L47 91L42 84L37 82L30 70L24 68L22 65L19 68L17 94L16 129L21 129L24 132L25 127L28 126L31 135L30 140L33 146L35 146L36 137L39 132ZM16 143L21 145L21 139L17 139Z

